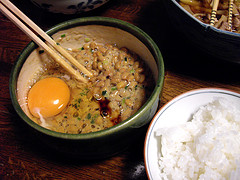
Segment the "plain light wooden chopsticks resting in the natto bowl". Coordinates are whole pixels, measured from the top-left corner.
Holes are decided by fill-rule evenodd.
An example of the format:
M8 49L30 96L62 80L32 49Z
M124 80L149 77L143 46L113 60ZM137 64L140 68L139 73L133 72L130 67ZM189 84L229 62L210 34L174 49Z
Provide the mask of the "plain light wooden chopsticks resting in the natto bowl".
M57 63L59 63L66 71L72 74L77 80L84 83L87 79L84 78L79 71L74 69L67 61L65 61L60 55L58 55L53 48L65 57L70 63L78 68L82 73L88 77L92 77L92 73L89 72L83 65L81 65L72 55L70 55L64 48L58 45L49 35L47 35L41 28L39 28L33 21L31 21L25 14L23 14L15 5L9 0L0 0L0 11L8 17L15 25L17 25L25 34L27 34L36 44L42 47ZM18 17L16 17L14 14ZM48 42L53 48L44 43L31 29L29 29L23 22L26 23L35 33L40 35L46 42Z

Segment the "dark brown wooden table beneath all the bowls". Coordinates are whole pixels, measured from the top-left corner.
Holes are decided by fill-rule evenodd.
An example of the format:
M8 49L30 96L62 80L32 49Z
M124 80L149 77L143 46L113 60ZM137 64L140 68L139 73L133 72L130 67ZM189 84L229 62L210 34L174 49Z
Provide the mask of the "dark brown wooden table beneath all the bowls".
M29 0L12 0L41 28L84 16L106 16L130 22L158 44L165 62L160 106L188 90L204 87L240 92L239 65L201 52L169 23L158 0L112 0L79 15L44 13ZM31 136L15 112L9 95L11 68L30 39L0 13L0 179L147 179L143 146L145 134L114 157L81 161L60 158Z

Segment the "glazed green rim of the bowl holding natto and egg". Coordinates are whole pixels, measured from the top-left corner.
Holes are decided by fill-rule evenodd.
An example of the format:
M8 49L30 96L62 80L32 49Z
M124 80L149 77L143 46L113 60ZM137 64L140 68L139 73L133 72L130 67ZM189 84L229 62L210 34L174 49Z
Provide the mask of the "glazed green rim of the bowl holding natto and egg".
M125 128L131 128L131 126L134 126L134 123L136 122L137 118L142 116L147 110L149 110L156 99L159 98L159 94L161 94L162 87L163 87L163 81L164 81L164 63L162 54L158 48L158 46L155 44L155 42L141 29L138 27L122 21L118 19L113 18L107 18L107 17L86 17L86 18L78 18L73 19L69 21L65 21L63 23L60 23L51 29L49 29L47 34L52 35L59 30L69 29L74 26L80 26L80 25L104 25L104 26L113 26L119 29L122 29L124 31L127 31L131 34L133 34L135 37L137 37L140 41L145 44L150 52L153 54L155 60L157 61L157 69L158 69L158 79L156 82L156 87L148 99L148 101L137 111L136 114L131 116L130 118L126 119L125 121L108 128L106 130L101 130L97 132L87 133L87 134L67 134L67 133L60 133L48 130L46 128L41 127L40 125L33 122L21 109L18 100L17 100L17 79L18 75L20 73L20 70L22 68L22 65L24 64L26 58L30 55L30 53L38 47L34 42L30 42L21 52L19 55L17 61L15 62L11 75L9 80L9 90L10 90L10 97L12 100L12 104L17 112L17 114L32 128L34 128L37 131L40 131L43 134L47 134L52 137L56 138L62 138L62 139L72 139L72 140L81 140L81 139L90 139L90 138L98 138L98 137L104 137L109 134L114 134L116 131L124 131ZM134 127L133 127L134 128Z

